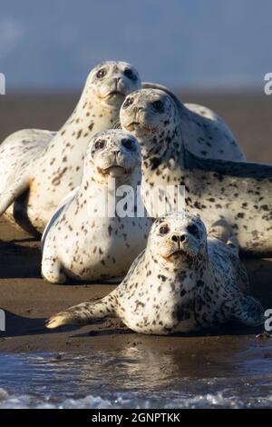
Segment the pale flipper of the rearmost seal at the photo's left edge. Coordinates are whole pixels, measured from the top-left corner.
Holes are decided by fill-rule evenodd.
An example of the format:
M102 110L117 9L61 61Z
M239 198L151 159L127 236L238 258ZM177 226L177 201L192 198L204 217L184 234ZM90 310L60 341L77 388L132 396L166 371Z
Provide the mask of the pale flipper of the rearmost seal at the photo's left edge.
M6 209L15 202L15 199L26 192L29 188L29 175L23 175L15 178L12 184L9 184L4 192L0 194L0 216Z

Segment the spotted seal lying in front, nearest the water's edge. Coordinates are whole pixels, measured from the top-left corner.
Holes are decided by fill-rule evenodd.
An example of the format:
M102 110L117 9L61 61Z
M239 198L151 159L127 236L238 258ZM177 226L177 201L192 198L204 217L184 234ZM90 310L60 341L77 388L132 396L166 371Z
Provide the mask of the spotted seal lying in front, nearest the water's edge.
M92 323L118 316L137 333L189 333L236 320L263 322L263 308L238 286L247 273L232 244L208 237L195 215L172 213L153 223L146 249L117 288L100 302L81 303L46 323Z

